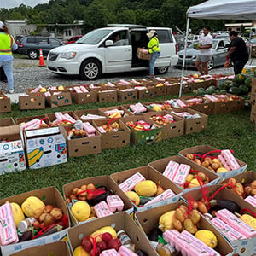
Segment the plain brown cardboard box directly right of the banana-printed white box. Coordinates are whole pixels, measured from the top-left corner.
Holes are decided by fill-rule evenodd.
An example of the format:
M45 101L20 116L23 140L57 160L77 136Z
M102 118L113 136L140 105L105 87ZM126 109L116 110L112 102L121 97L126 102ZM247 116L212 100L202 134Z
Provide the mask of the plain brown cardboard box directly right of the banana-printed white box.
M68 157L79 157L102 152L102 135L99 131L96 131L96 136L68 139L68 131L72 128L73 125L60 125L61 133L66 138Z

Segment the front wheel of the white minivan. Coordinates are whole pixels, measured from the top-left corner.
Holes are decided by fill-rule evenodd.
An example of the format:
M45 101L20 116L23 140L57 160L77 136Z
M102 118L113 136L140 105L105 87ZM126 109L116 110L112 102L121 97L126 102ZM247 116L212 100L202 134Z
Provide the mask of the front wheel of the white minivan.
M86 60L82 63L79 73L84 80L96 80L102 74L102 66L99 61Z

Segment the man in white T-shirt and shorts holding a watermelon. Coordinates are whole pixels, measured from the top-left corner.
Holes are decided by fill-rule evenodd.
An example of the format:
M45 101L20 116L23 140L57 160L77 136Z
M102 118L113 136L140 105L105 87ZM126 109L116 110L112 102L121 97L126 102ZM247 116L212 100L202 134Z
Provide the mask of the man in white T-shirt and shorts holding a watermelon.
M199 54L195 60L195 67L201 75L208 74L207 64L212 60L212 40L213 38L210 34L210 27L205 26L199 39L201 46L197 48L199 50Z

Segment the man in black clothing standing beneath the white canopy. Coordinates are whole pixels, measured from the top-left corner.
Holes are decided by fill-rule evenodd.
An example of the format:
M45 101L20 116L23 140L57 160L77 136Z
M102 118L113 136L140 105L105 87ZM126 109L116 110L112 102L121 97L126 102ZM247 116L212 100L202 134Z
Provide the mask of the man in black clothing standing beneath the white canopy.
M230 32L230 41L230 49L226 54L226 59L230 59L233 62L234 73L237 75L241 73L243 67L249 60L249 54L247 51L247 45L243 39L238 37L238 33L236 31Z

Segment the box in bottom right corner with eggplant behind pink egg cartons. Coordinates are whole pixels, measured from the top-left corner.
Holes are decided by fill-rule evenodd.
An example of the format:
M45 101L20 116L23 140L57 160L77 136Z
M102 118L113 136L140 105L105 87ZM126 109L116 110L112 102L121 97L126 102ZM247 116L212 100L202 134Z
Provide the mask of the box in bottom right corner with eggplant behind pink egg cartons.
M229 186L232 183L195 189L183 194L183 199L208 218L236 255L255 255L255 207L230 191Z

